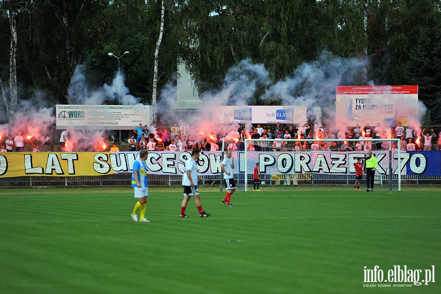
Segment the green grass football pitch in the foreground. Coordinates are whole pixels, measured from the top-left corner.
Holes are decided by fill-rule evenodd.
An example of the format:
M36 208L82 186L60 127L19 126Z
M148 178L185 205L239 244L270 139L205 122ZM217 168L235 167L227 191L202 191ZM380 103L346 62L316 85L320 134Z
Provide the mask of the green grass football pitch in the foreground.
M150 188L0 190L0 293L441 293L441 189L237 192ZM435 282L379 288L364 267L435 266ZM366 285L375 285L368 288ZM393 286L393 285L392 285Z

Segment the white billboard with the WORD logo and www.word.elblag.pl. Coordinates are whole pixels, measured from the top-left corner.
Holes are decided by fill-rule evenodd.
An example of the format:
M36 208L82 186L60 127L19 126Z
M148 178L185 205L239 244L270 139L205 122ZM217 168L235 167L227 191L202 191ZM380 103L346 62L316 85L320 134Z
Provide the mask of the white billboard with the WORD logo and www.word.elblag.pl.
M56 105L57 129L131 130L150 125L150 105Z

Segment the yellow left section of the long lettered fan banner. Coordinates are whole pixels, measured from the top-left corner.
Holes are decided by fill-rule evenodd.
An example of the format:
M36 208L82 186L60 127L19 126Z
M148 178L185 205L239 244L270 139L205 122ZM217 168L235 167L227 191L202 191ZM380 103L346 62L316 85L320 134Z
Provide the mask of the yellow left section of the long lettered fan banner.
M3 152L0 177L104 175L115 171L110 152Z

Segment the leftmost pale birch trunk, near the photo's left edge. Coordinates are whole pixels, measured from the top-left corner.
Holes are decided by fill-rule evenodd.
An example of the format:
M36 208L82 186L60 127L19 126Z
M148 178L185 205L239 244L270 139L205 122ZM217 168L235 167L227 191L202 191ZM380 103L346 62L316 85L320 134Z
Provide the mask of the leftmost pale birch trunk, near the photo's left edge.
M8 123L13 124L15 112L17 111L17 26L15 24L14 10L10 0L6 0L9 10L9 27L11 29L11 47L9 52L9 107L8 99L5 97L6 109L8 112ZM8 109L9 108L9 109Z

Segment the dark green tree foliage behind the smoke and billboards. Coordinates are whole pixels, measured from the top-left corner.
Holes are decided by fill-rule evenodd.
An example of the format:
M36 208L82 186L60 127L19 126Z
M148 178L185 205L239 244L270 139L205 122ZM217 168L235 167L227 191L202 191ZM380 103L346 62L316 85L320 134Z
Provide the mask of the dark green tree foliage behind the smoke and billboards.
M161 0L13 3L22 99L39 90L47 93L48 103L65 103L76 64L85 64L91 85L100 85L110 82L118 69L118 61L107 53L120 56L129 51L121 59L126 85L132 95L151 103ZM367 40L364 0L165 0L165 4L159 91L172 80L180 62L204 92L221 87L228 69L246 58L264 64L275 83L302 62L315 60L322 50L363 58L366 45L369 79L377 84L420 85L421 100L433 109L432 122L441 123L439 73L433 73L439 68L439 1L369 0ZM63 12L69 19L67 27L57 18ZM4 1L0 2L0 36L0 49L9 52ZM66 46L71 39L73 55ZM3 81L8 73L6 53L0 56ZM263 103L262 93L258 89L250 103Z

